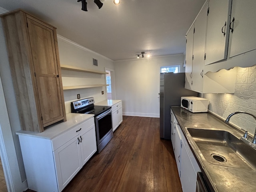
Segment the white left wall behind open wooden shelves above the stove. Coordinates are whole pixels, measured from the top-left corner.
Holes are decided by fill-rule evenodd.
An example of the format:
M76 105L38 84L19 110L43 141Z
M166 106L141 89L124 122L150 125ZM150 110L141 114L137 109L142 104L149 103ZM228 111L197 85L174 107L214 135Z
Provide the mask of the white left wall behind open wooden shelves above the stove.
M114 64L111 59L62 36L58 36L58 46L60 65L69 65L102 72L104 72L105 68L114 69ZM92 65L92 58L98 60L98 66ZM61 73L63 86L106 84L105 75L101 74L70 70L61 70ZM101 93L102 91L104 91L103 95ZM95 102L100 102L106 100L106 87L64 90L66 113L70 113L70 102L77 100L77 94L80 94L81 99L93 96Z

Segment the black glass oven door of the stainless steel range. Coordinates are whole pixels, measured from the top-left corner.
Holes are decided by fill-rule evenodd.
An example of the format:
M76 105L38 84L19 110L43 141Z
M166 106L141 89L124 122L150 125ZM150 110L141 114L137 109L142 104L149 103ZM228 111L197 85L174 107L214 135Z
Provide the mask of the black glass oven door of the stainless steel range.
M96 132L97 132L97 144L99 145L112 129L112 109L110 108L106 112L95 117Z

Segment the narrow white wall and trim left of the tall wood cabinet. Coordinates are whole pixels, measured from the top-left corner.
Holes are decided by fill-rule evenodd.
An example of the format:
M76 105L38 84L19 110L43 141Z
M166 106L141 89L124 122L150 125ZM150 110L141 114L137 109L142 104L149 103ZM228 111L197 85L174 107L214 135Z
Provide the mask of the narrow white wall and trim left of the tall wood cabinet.
M7 12L0 8L0 14ZM20 130L20 121L18 109L16 107L16 98L12 85L12 76L2 28L0 21L0 128L2 137L0 143L4 145L1 150L3 158L6 160L4 166L8 171L7 185L10 191L22 192L27 188L26 174L24 170L20 143L16 131ZM7 107L8 110L7 110ZM9 115L10 114L10 115ZM1 146L2 147L2 146Z

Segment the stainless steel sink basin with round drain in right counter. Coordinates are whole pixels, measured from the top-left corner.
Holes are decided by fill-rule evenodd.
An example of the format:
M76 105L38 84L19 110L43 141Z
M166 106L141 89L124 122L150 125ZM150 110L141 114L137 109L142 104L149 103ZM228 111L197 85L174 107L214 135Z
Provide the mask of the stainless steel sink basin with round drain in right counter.
M203 158L218 166L256 170L256 150L224 130L187 128Z

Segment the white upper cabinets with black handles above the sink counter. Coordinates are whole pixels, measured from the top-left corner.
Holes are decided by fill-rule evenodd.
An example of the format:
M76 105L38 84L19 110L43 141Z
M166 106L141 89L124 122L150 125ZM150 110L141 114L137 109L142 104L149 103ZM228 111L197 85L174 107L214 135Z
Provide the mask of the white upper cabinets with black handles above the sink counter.
M205 6L209 9L206 16L206 35L202 36L202 39L205 38L205 59L202 75L206 75L207 72L218 72L222 69L230 70L236 66L254 66L256 64L256 41L254 40L254 33L256 31L256 25L254 24L256 20L256 1L206 0L197 18L192 23L191 28L196 28L196 23L202 19L200 15L205 11ZM203 21L202 25L204 25L204 23ZM199 42L196 40L196 32L193 36L194 60L192 61L192 70L190 65L188 65L188 70L186 70L192 71L190 84L189 76L186 74L186 88L192 90L196 83L194 75L198 74L198 68L201 67L198 66L199 62L197 59L199 58L196 58L195 55L201 50L201 44L197 47L197 43ZM187 42L189 42L188 39L191 38L189 35L190 31L187 33ZM190 44L187 43L187 46L190 46ZM188 47L187 50L190 50L190 47ZM190 52L188 52L188 54L190 54ZM190 64L188 60L186 62ZM204 90L202 90L202 92L204 92Z

